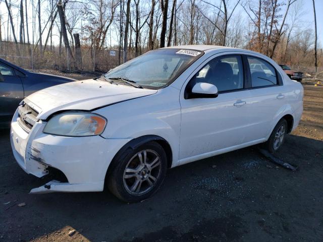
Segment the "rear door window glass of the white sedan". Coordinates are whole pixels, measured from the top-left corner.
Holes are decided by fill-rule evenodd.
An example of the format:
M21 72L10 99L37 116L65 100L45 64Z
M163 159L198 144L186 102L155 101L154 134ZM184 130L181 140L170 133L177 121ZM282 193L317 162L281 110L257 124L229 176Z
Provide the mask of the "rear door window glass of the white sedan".
M251 87L277 85L275 68L263 59L247 56L251 73Z

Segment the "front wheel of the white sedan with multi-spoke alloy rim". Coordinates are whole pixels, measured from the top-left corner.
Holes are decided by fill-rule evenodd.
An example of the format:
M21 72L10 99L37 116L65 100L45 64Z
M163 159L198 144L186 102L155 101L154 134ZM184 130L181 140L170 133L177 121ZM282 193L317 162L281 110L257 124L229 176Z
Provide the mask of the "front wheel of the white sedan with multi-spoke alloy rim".
M119 151L107 174L111 193L124 202L136 203L153 195L164 181L167 155L163 147L150 141L136 149Z

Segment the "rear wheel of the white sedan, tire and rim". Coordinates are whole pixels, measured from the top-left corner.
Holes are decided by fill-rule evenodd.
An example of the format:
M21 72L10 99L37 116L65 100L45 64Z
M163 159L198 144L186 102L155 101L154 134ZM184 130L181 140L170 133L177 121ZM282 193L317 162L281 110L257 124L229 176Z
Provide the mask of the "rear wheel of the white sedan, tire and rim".
M275 126L271 136L264 143L264 148L268 150L270 153L275 153L278 151L282 144L285 141L286 133L287 133L287 121L285 118L279 120L278 124Z

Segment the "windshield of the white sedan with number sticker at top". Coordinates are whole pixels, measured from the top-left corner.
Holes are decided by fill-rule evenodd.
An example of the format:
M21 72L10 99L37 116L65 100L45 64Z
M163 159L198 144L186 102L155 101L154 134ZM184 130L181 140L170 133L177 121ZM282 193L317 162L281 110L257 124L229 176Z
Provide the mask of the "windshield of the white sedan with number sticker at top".
M202 51L190 49L156 49L116 67L104 77L159 89L171 84L201 55Z

